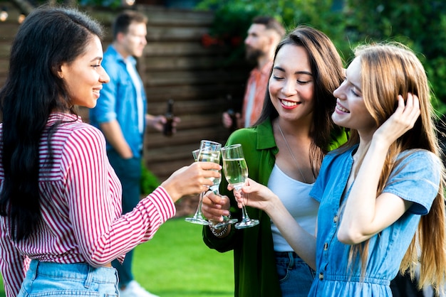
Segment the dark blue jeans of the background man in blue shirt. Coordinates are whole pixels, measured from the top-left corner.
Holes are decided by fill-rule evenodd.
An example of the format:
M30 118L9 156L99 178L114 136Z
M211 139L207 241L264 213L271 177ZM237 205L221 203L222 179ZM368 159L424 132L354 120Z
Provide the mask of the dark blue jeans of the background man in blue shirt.
M123 214L131 212L140 202L141 158L123 159L113 150L107 151L107 156L123 185ZM132 263L133 249L125 254L123 264L118 260L112 261L113 267L118 270L120 287L133 281Z

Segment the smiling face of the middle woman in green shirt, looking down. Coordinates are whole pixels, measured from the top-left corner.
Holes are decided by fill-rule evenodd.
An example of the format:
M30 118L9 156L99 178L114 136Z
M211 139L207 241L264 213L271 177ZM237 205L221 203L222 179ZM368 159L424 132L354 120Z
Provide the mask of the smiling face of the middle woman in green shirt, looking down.
M314 80L304 47L283 45L274 59L269 96L279 117L311 123Z

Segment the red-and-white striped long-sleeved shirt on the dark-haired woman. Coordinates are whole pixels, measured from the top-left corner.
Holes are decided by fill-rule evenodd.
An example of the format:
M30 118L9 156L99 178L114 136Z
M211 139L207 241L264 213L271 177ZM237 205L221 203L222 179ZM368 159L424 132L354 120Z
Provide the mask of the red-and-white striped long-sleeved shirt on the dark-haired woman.
M58 119L48 157L48 135L39 148L42 220L37 232L19 243L12 242L9 225L0 216L0 269L7 297L16 296L30 259L56 263L86 262L98 267L151 239L163 222L175 215L175 204L158 187L132 212L121 215L121 185L105 152L105 138L95 127L73 114L51 114L47 127ZM0 139L3 135L0 124ZM0 147L0 187L4 169ZM26 177L24 177L26 178Z

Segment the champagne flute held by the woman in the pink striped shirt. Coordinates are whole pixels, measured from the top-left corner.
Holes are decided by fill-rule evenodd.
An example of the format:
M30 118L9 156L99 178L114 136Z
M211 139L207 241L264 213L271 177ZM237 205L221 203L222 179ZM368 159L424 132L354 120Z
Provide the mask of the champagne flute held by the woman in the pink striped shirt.
M208 161L208 162L219 163L220 148L222 148L222 144L219 144L218 142L202 140L199 146L199 150L192 151L192 155L194 156L196 162ZM221 178L219 179L221 180ZM198 207L197 210L195 211L195 215L193 217L186 217L185 220L187 222L199 225L209 225L209 222L203 217L202 213L204 193L205 192L199 194Z

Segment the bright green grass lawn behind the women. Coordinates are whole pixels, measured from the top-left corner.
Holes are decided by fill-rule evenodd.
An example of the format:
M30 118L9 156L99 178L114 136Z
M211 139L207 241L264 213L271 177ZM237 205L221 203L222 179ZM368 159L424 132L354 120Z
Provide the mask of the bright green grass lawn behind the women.
M232 252L207 248L202 226L183 218L165 222L152 240L136 248L133 274L160 297L234 296Z

